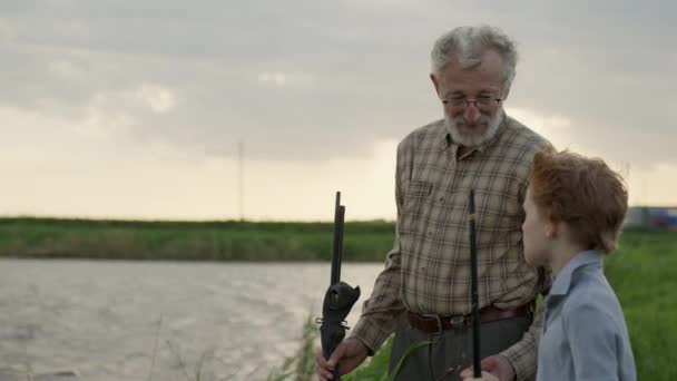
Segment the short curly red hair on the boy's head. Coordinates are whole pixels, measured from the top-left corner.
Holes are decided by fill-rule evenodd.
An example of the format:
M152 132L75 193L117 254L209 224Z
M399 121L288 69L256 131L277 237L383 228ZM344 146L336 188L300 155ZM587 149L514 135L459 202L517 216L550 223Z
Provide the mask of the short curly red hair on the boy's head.
M538 152L531 196L543 217L567 223L578 244L605 254L617 247L628 192L602 159L551 148Z

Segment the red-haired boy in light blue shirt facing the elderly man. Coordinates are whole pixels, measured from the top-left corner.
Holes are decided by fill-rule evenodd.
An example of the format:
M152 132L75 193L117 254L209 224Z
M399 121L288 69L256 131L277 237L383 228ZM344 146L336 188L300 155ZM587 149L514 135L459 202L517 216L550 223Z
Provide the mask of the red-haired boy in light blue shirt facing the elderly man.
M544 300L537 381L637 379L628 330L602 272L617 246L628 194L601 159L536 154L524 199L524 258L555 280ZM467 369L461 377L472 379ZM484 381L498 380L482 372Z

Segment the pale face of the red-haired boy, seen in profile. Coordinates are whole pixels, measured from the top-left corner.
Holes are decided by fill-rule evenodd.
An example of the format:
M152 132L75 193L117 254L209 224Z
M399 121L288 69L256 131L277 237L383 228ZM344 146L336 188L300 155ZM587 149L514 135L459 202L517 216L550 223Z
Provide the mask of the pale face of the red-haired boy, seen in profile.
M526 213L522 224L522 241L524 243L524 260L531 266L542 266L549 261L550 238L547 234L549 222L542 217L538 205L531 198L531 187L527 189L524 204Z

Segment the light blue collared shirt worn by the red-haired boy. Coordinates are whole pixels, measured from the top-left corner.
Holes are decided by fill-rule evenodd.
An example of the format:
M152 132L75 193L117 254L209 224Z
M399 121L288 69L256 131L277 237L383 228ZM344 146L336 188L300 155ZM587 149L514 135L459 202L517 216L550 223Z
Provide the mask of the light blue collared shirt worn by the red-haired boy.
M537 381L635 381L635 359L620 303L602 272L602 255L577 254L544 301Z

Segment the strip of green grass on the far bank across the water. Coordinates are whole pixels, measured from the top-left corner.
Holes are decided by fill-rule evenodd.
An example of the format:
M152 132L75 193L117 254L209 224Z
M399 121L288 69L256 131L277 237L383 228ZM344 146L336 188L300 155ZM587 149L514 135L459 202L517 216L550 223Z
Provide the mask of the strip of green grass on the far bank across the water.
M328 223L0 218L0 257L330 261ZM344 258L381 262L394 225L345 224Z

